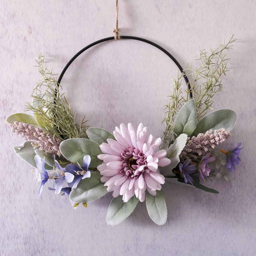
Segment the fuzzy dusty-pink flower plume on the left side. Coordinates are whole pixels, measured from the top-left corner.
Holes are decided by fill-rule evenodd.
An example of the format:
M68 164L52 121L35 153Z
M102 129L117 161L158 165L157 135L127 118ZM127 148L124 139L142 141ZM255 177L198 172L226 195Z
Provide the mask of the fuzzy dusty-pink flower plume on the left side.
M61 140L54 138L52 134L46 133L40 128L35 128L29 123L17 122L10 123L11 131L24 138L26 141L35 141L33 146L39 146L40 150L45 151L47 154L57 154L61 156L59 151L59 144Z

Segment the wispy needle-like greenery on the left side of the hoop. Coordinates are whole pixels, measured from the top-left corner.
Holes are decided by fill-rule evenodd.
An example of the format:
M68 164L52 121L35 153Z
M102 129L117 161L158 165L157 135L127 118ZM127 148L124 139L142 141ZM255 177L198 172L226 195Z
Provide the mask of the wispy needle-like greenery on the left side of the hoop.
M56 75L44 66L44 56L36 59L41 80L32 93L33 102L27 102L26 110L33 111L42 129L61 139L87 138L85 118L79 125L67 103L61 86L57 84Z

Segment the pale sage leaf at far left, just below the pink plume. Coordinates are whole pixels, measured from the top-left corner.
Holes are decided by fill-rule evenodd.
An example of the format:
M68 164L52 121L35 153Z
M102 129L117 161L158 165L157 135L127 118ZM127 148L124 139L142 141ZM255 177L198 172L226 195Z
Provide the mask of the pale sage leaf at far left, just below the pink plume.
M34 147L31 145L32 141L25 141L22 145L20 146L14 146L13 149L15 153L22 158L25 162L27 162L29 165L31 165L34 168L37 168L37 165L35 164L35 151ZM52 170L53 167L47 165L45 163L45 169L46 170Z

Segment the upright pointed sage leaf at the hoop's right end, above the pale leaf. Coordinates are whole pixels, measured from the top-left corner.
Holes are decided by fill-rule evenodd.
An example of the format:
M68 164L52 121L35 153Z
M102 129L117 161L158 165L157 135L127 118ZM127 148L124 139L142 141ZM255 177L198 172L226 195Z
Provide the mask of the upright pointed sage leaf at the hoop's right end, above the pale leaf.
M179 110L174 122L173 131L175 138L182 133L190 136L197 127L197 110L195 108L195 100L190 99Z

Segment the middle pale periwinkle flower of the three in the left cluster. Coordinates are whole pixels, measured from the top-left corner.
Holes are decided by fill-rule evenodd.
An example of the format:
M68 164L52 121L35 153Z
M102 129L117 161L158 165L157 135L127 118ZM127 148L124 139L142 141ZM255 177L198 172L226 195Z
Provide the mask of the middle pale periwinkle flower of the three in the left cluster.
M73 174L74 172L70 173L69 171L66 171L65 168L61 167L57 160L55 160L55 166L57 167L56 173L58 178L55 179L53 188L55 189L55 194L59 194L63 188L64 181L71 183L75 176Z

